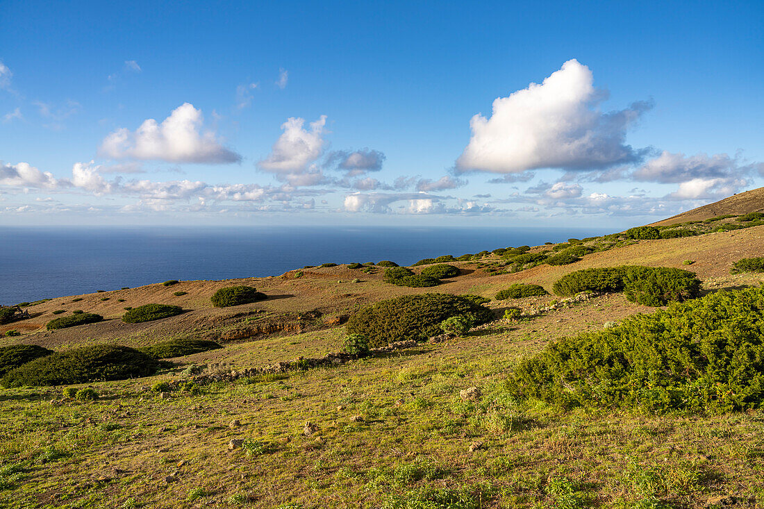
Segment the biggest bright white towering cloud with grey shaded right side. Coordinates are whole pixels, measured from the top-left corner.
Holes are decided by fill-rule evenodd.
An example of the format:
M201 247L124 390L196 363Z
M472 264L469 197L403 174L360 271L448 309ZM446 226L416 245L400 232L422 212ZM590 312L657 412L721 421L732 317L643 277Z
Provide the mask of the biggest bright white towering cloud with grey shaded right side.
M494 100L493 115L474 115L472 136L457 170L520 173L536 168L571 170L633 163L641 154L625 144L626 128L649 109L645 102L602 113L606 94L578 60L539 85Z

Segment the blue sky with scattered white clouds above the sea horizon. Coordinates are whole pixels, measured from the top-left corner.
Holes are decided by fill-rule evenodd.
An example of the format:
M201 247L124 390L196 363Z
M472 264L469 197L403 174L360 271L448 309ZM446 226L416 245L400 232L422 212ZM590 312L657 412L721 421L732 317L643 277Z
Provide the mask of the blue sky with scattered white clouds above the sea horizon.
M762 18L5 0L0 224L650 222L764 185Z

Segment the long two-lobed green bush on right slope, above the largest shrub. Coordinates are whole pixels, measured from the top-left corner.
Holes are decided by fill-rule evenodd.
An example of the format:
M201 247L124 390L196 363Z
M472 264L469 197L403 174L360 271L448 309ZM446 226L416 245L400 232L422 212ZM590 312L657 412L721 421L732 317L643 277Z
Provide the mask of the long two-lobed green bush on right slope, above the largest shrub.
M552 287L567 297L584 291L612 293L623 291L628 300L645 306L665 306L672 300L698 297L701 282L690 271L672 267L591 268L566 274Z

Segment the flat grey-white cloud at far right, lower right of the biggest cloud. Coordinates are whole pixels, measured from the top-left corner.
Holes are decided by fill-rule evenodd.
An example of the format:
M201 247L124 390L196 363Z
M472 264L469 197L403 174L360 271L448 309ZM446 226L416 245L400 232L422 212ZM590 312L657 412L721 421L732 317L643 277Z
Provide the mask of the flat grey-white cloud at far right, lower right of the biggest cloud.
M764 170L764 164L743 164L739 157L727 154L672 154L663 151L636 170L634 180L658 183L684 183L691 180L729 179L742 177L754 170Z

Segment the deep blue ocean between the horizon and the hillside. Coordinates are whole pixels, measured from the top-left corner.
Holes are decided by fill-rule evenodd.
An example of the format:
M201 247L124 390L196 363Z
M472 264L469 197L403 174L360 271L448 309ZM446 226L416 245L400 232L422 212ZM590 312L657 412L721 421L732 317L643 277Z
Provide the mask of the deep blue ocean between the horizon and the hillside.
M0 303L8 305L169 279L283 274L326 262L407 265L601 229L441 227L0 228Z

